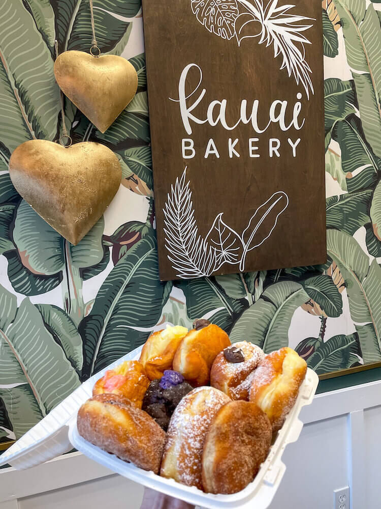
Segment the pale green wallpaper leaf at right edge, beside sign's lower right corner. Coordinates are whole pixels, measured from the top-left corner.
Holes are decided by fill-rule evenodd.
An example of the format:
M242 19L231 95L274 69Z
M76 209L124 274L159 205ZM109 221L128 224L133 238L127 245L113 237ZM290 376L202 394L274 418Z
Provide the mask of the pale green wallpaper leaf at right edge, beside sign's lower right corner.
M364 362L381 360L381 267L357 241L338 230L327 231L327 252L345 280L352 320L359 334Z

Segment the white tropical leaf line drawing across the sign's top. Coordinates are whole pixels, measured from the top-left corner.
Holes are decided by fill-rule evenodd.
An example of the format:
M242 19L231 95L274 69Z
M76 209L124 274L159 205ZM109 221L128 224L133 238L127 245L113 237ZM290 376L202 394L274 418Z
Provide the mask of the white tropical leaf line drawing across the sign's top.
M305 59L305 44L310 41L302 34L313 26L313 18L290 12L295 5L278 5L278 0L191 0L192 11L206 29L223 39L236 37L238 46L243 39L258 38L258 44L273 46L274 58L282 57L280 70L287 69L294 76L309 99L313 94L310 74ZM307 21L307 24L305 22Z

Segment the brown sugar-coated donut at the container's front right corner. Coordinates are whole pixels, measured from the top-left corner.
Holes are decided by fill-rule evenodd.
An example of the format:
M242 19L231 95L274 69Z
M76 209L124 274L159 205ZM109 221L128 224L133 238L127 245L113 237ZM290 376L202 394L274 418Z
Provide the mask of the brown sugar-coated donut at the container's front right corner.
M206 435L202 482L207 493L237 493L257 475L269 453L272 429L254 403L232 401L219 409Z

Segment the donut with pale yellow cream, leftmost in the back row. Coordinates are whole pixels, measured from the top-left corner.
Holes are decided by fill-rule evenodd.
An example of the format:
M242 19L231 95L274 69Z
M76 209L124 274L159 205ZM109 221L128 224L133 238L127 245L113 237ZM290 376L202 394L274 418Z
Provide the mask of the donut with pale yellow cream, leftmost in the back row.
M175 325L153 332L145 342L139 361L150 380L162 378L165 370L172 369L173 357L188 329Z

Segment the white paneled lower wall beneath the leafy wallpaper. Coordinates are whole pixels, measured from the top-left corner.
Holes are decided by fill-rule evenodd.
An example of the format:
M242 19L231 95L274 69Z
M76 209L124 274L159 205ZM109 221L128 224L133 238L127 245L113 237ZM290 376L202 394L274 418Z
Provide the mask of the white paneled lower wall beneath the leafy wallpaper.
M317 395L301 418L305 426L285 450L287 470L270 509L333 509L333 490L345 486L350 509L381 507L381 381ZM0 470L0 509L139 509L142 493L79 453Z

